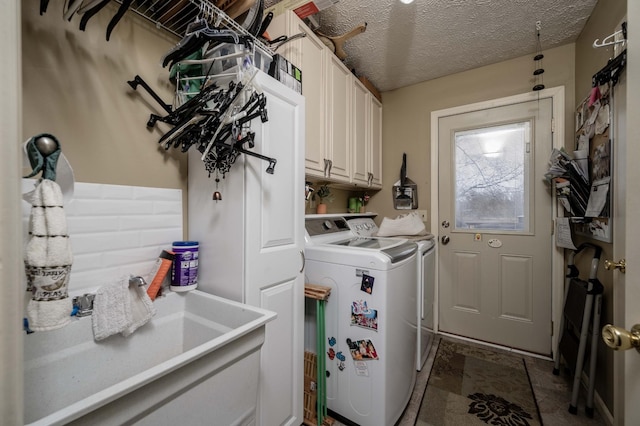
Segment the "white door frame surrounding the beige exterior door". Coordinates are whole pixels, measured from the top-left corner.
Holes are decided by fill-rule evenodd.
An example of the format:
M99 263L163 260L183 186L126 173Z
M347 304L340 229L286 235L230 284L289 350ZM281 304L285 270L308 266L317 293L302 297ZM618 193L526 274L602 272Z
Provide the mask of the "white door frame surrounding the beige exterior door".
M553 87L550 89L544 89L539 92L523 93L521 95L508 96L506 98L492 99L488 101L477 102L469 105L462 105L453 108L442 109L433 111L431 113L431 233L436 238L436 248L439 246L438 242L438 179L439 179L439 164L438 164L438 123L440 118L450 115L464 114L467 112L478 111L482 109L495 108L501 106L507 106L515 103L535 101L539 98L551 98L553 104L553 125L552 125L552 139L553 147L560 149L564 146L564 86ZM553 197L552 201L553 212L557 212L556 198ZM552 223L554 217L549 218L549 232L552 229ZM552 239L555 241L554 239ZM564 298L564 253L562 249L558 249L555 243L551 248L551 276L552 276L552 288L551 288L551 312L553 320L553 337L551 339L551 348L557 347L558 333L560 330L560 317L562 315L562 303ZM436 252L437 253L437 252ZM434 300L434 332L438 332L439 323L439 292L438 292L438 261L436 261L436 283L435 283L435 300ZM554 356L556 354L554 353Z

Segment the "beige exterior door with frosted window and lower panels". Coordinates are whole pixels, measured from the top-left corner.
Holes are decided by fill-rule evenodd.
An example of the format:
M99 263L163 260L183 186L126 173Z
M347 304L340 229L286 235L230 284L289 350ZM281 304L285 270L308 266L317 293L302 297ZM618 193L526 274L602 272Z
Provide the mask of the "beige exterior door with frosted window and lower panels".
M551 354L552 99L440 117L439 328Z

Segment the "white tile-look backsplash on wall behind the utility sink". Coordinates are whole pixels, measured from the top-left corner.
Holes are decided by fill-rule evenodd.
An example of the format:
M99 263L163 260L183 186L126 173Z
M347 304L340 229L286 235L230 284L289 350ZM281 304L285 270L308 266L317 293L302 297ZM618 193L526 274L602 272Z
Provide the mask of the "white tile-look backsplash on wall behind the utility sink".
M23 192L33 189L34 180L22 182ZM25 245L30 210L23 201ZM71 297L93 293L122 276L147 278L162 250L182 240L180 189L76 183L64 211L73 252Z

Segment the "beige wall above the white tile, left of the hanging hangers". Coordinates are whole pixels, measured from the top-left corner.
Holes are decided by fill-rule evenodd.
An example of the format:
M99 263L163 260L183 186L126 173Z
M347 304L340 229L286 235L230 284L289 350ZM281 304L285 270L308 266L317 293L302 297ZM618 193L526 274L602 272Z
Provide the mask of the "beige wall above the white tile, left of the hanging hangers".
M77 16L62 19L64 0L50 1L43 16L40 2L21 3L24 140L55 135L77 181L180 188L186 201L186 155L159 147L169 127L146 128L151 112L165 112L142 88L127 84L139 74L171 103L160 62L178 38L128 13L107 42L115 2L91 18L85 32Z

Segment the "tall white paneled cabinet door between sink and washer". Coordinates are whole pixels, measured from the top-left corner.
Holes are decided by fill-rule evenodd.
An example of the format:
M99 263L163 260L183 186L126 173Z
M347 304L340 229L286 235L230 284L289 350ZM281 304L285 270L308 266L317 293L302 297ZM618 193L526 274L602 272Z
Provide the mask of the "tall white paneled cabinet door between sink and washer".
M245 302L277 312L261 354L258 424L299 425L303 407L304 98L260 73L269 121L252 122L254 151L245 156ZM224 202L224 201L222 201ZM221 246L222 247L222 246Z

